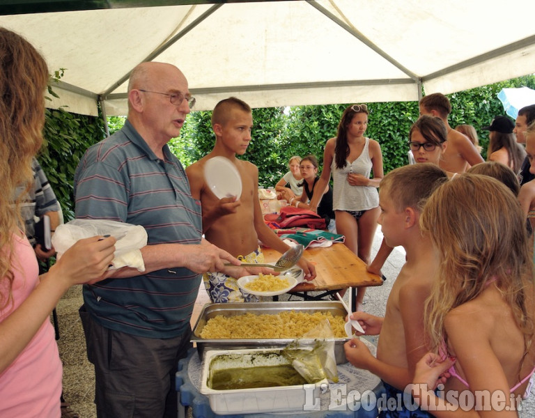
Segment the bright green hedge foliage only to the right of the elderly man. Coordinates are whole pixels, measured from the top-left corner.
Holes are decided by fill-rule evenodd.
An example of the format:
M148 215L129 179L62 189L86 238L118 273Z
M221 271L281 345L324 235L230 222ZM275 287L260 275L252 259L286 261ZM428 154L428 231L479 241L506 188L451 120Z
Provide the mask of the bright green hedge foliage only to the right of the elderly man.
M504 114L497 98L502 88L528 86L535 88L535 75L518 77L488 86L472 88L448 95L452 112L449 125L474 125L479 144L486 158L488 131L497 115ZM358 101L357 101L358 102ZM348 104L295 106L253 109L251 145L243 159L258 166L259 184L274 185L288 171L286 164L292 155L313 154L323 165L323 148L327 139L336 136L343 110ZM366 136L381 145L385 173L408 163L408 132L419 116L417 102L370 103ZM210 152L214 136L210 127L210 111L192 112L179 138L171 141L173 152L186 166Z

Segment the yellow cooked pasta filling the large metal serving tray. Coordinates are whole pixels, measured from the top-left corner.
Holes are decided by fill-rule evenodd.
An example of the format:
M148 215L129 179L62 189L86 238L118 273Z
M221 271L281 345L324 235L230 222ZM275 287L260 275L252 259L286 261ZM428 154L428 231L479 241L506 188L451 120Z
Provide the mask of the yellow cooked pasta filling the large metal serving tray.
M343 316L330 312L284 311L279 314L240 314L210 318L201 330L203 339L295 339L327 318L336 338L345 338Z

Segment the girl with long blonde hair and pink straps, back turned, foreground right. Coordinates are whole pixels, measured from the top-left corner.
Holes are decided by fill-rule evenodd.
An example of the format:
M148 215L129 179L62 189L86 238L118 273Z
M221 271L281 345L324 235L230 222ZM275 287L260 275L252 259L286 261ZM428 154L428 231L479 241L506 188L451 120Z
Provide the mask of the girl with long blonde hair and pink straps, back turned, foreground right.
M433 193L420 223L440 267L425 316L434 351L417 364L412 394L439 418L517 417L535 369L533 263L518 201L498 180L464 173Z

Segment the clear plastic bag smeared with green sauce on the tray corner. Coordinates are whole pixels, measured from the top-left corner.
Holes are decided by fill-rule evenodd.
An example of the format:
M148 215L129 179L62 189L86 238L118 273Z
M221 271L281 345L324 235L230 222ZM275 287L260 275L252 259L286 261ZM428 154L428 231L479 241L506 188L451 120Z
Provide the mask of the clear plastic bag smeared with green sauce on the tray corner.
M292 341L282 350L295 370L309 383L325 378L338 382L338 369L334 355L334 332L325 319L300 339Z

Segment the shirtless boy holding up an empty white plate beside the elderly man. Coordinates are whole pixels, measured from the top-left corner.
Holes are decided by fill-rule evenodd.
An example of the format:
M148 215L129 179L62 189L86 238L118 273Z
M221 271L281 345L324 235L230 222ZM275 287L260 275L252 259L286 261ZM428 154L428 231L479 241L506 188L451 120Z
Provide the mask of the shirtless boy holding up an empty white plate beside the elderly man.
M186 174L194 199L203 208L203 233L208 241L248 263L263 263L258 240L263 245L284 253L289 249L264 223L258 201L258 168L250 162L238 160L251 142L253 115L251 107L238 98L228 98L216 104L212 112L215 146L198 162L187 167ZM242 194L217 198L206 185L204 164L210 158L226 157L240 173ZM314 266L304 258L298 263L305 279L316 277ZM242 293L236 279L223 273L207 273L203 281L212 302L256 302L258 297Z

